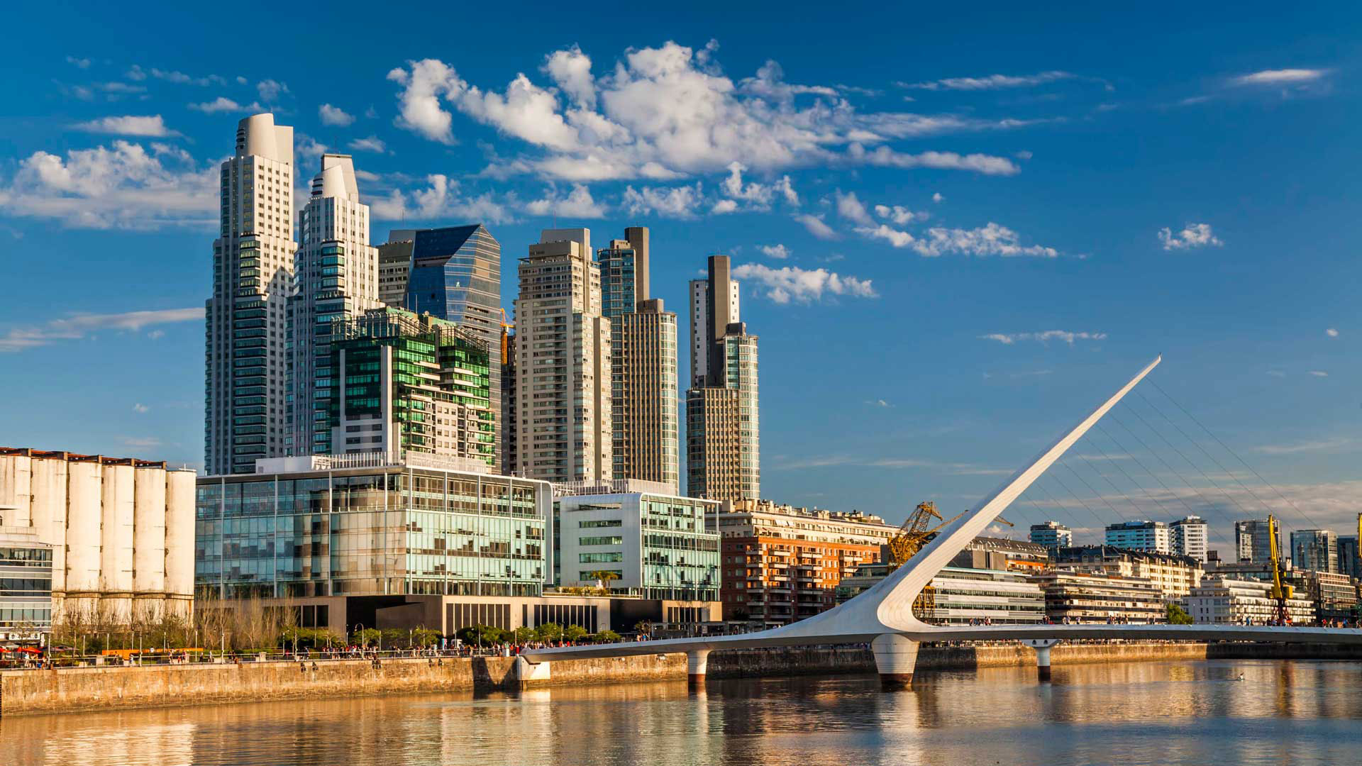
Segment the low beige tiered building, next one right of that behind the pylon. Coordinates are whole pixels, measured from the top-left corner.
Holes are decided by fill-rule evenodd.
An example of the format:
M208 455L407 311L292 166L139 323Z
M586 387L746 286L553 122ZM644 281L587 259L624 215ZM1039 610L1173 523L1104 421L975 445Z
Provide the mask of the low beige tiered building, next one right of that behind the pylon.
M1081 566L1031 577L1045 590L1045 613L1056 623L1160 623L1167 612L1159 586Z

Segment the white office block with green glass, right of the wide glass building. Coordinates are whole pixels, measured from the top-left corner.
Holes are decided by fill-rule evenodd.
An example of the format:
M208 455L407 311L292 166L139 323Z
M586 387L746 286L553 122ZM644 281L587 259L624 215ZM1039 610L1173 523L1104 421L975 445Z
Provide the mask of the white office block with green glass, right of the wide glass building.
M681 497L667 484L639 480L554 489L560 586L599 581L617 594L706 602L695 605L704 615L718 604L716 502Z

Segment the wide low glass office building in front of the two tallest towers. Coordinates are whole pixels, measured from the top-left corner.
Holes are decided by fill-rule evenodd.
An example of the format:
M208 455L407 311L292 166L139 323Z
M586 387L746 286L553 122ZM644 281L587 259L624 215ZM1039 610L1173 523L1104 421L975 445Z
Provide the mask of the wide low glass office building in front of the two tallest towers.
M200 593L542 593L552 571L548 482L436 468L437 455L385 462L372 454L279 458L256 474L200 477Z

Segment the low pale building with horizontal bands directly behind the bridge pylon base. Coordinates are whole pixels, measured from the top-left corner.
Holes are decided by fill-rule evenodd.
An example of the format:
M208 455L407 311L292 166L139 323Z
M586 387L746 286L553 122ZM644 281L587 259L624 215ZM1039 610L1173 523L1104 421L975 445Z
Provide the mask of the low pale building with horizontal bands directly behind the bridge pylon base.
M888 564L861 564L835 590L842 604L888 577ZM913 604L919 620L934 626L1034 626L1045 620L1045 592L1026 574L943 567Z

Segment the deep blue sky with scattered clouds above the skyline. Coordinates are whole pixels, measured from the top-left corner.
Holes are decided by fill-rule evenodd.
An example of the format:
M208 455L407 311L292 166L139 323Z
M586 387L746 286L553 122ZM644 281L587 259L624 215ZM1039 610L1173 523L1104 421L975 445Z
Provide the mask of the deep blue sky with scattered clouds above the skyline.
M601 244L651 226L671 309L704 256L733 255L768 497L963 510L1163 353L1154 380L1261 477L1224 450L1165 469L1105 443L1114 459L1075 463L1091 492L1066 470L1072 495L1042 485L1013 521L1094 526L1086 500L1224 530L1276 497L1264 481L1288 526L1362 508L1347 4L264 8L272 29L69 5L60 35L11 41L0 442L202 461L217 165L268 108L300 179L323 147L354 154L377 241L488 224L508 307L554 219ZM1107 463L1165 493L1103 504L1141 484Z

